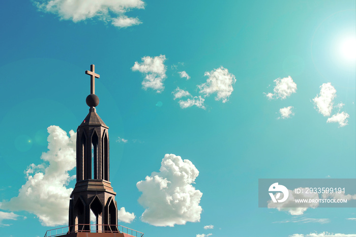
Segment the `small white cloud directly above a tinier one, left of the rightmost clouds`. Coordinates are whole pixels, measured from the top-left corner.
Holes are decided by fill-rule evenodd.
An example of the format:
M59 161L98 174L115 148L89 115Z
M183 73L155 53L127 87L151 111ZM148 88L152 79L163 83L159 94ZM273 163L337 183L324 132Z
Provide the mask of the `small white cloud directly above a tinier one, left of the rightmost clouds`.
M276 83L273 92L274 93L268 93L266 94L266 97L268 99L273 99L274 97L276 99L282 99L284 100L285 98L289 97L291 94L296 93L296 83L293 81L293 79L288 76L284 78L277 78L274 80Z

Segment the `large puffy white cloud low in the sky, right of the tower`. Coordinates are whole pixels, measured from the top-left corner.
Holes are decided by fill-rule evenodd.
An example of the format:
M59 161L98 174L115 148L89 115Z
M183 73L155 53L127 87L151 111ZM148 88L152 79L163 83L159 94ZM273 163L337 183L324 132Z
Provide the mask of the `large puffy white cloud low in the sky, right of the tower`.
M200 221L202 193L192 186L198 175L191 161L166 154L160 172L152 172L136 184L142 192L138 202L145 208L141 221L155 226Z

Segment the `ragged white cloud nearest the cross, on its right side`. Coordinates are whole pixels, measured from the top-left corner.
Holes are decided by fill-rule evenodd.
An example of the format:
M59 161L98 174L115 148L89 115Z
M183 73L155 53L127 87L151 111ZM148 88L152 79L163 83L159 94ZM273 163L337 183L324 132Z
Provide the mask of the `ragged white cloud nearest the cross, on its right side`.
M163 81L167 78L166 66L164 65L166 56L144 56L141 60L142 63L135 62L131 69L132 71L139 71L145 75L142 81L142 87L144 90L152 88L153 90L156 90L157 93L162 92L164 90Z

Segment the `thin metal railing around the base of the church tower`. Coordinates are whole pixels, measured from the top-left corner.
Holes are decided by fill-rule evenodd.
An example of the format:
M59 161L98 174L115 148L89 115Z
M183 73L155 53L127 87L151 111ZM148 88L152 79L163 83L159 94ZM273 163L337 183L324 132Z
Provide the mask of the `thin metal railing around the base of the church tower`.
M77 228L76 228L77 227ZM121 229L121 230L120 230ZM52 237L73 232L91 232L91 233L126 233L135 237L142 237L143 233L122 225L96 225L96 224L78 224L47 230L44 237Z

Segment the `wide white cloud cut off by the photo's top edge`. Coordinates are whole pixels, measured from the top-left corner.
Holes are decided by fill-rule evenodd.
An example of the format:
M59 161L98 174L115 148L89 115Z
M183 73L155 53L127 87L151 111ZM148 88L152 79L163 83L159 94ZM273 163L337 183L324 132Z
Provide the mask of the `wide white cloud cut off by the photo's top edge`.
M34 4L38 10L53 13L64 20L78 22L97 18L117 27L140 24L137 17L127 17L125 13L144 8L141 0L35 0Z

